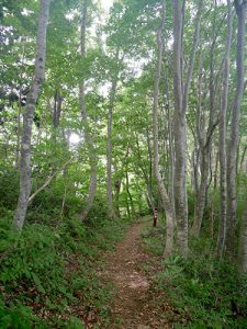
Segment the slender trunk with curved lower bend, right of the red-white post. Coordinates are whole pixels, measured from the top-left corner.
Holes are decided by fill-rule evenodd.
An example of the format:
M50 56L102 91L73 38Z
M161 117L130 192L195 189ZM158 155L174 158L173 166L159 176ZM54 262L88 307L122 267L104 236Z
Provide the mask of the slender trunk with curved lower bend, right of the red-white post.
M166 191L162 178L159 172L159 151L158 151L158 101L159 101L159 81L160 81L160 72L161 72L162 48L164 48L162 30L165 25L165 5L166 2L162 1L161 24L157 33L158 60L157 60L155 86L154 86L153 132L154 132L154 171L155 171L155 178L158 185L159 195L161 198L162 208L166 213L166 248L165 248L164 257L167 257L173 251L173 217L172 217L172 205L169 201L168 193Z

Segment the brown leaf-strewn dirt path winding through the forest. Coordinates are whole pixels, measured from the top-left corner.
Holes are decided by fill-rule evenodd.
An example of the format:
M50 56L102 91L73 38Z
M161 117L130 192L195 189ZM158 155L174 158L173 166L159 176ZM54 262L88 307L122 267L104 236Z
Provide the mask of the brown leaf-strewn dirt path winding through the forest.
M130 228L123 241L116 246L115 252L108 254L105 260L103 276L116 286L112 305L114 325L111 325L110 329L171 328L165 319L158 317L155 309L151 309L151 281L139 266L149 258L139 246L144 220ZM119 325L115 324L116 319Z

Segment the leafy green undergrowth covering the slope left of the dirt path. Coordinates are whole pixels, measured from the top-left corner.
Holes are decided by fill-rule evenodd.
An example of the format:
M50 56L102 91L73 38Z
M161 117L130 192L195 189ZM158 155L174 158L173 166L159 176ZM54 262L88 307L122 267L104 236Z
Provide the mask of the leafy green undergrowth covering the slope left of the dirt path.
M109 222L97 213L102 204L96 207L81 224L75 212L59 218L38 214L33 205L21 235L11 229L13 212L1 207L0 328L108 324L110 286L102 285L96 269L101 251L121 239L127 220Z

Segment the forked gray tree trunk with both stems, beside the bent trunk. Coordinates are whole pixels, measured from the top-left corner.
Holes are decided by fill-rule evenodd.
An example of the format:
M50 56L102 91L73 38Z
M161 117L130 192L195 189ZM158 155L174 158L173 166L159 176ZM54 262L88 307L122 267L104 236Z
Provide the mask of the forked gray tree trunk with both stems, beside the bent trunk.
M188 104L188 93L191 86L192 72L195 60L195 53L200 36L201 10L203 1L199 2L195 30L193 36L192 53L189 60L187 80L183 90L182 81L182 18L184 5L181 7L179 0L173 1L173 93L175 93L175 207L177 220L177 245L179 252L188 254L188 201L186 186L186 111Z

